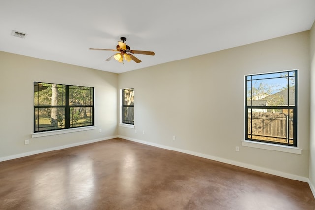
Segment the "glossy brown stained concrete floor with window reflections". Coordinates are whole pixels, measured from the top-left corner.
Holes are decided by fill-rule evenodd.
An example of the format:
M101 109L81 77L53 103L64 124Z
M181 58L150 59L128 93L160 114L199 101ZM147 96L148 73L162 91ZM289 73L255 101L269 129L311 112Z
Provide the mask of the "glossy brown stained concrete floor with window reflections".
M308 183L123 139L0 162L1 210L314 210Z

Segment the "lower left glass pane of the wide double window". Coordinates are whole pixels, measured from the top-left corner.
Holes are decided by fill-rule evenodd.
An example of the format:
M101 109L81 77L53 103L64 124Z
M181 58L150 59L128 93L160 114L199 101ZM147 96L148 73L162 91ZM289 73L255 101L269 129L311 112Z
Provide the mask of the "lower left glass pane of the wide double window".
M46 131L64 128L65 108L36 108L35 130Z

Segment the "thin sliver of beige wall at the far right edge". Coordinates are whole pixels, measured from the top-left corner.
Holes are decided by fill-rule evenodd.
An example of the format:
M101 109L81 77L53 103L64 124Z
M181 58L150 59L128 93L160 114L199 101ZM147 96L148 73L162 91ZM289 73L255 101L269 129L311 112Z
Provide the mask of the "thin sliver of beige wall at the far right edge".
M311 105L310 105L310 182L315 186L315 22L310 30Z

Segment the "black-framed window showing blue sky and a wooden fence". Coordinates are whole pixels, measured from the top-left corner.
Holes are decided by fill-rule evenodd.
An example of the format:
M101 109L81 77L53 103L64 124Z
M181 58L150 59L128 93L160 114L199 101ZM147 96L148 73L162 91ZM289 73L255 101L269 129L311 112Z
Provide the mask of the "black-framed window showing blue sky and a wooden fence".
M245 80L245 139L297 146L297 70Z

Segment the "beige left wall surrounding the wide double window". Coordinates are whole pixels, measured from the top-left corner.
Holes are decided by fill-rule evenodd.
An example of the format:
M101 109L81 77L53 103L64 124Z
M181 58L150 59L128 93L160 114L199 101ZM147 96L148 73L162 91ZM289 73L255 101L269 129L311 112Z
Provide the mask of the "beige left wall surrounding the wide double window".
M34 81L95 87L97 129L32 138ZM0 51L0 158L117 135L117 85L117 74Z

